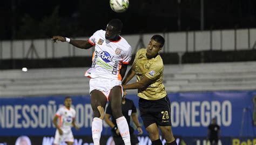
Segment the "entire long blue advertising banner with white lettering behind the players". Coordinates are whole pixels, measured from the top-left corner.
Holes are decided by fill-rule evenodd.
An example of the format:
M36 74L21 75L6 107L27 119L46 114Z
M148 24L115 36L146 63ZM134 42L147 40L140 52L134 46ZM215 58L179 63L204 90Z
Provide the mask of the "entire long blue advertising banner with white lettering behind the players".
M169 93L173 133L206 136L207 126L216 118L221 136L255 136L256 129L252 126L255 94L256 91ZM73 134L90 135L93 119L90 96L71 97L77 112L76 122L81 127L78 131L72 129ZM138 96L127 98L138 107ZM0 98L0 136L54 135L52 119L63 102L64 96ZM111 135L109 126L105 122L103 126L102 134Z

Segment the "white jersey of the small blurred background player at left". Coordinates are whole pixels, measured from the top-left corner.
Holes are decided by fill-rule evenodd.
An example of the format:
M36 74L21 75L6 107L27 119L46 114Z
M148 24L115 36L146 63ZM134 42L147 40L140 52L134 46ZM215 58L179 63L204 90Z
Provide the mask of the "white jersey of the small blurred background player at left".
M75 109L68 109L65 106L60 107L56 112L59 117L59 127L62 129L63 133L71 132L72 121L76 117Z

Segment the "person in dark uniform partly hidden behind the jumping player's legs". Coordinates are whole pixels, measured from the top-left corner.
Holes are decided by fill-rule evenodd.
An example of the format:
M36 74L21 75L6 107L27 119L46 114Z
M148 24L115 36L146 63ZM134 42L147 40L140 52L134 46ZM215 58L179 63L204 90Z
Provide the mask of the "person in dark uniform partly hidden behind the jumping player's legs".
M127 123L129 125L131 145L138 145L138 143L139 143L138 137L137 137L137 135L133 134L134 129L133 129L133 127L130 126L130 116L132 116L132 120L135 123L135 125L137 126L139 134L142 134L143 130L139 125L138 116L136 114L137 109L134 106L133 101L130 100L130 99L126 99L125 98L126 92L124 92L124 93L125 94L124 94L123 99L122 99L122 113L125 116L125 119L127 120ZM112 119L110 120L111 117L112 117ZM112 110L111 110L111 104L110 103L106 108L105 121L106 121L107 125L112 127L111 132L112 132L114 143L117 144L117 145L119 145L119 144L124 145L124 141L123 141L123 139L122 139L122 137L119 133L119 130L117 128L116 119L114 119L114 117L112 115Z

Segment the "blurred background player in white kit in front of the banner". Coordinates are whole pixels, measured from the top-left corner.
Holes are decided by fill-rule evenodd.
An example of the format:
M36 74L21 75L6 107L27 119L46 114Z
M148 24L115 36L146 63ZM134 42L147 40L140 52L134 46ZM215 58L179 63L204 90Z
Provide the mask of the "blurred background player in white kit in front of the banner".
M72 145L74 142L74 136L72 134L71 127L73 126L76 129L79 129L75 123L76 111L71 108L72 100L70 96L66 96L64 105L65 106L58 109L55 118L52 121L57 128L54 138L55 145L60 144L62 141L66 142L68 145ZM57 124L58 119L59 125Z

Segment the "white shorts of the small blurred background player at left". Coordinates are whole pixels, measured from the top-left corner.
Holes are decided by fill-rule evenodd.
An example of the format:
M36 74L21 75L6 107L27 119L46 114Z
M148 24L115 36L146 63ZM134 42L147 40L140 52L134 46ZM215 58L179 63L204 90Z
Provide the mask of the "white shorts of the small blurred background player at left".
M56 129L55 137L54 137L54 144L60 144L62 141L64 142L74 142L74 136L72 134L72 131L68 133L63 133L63 135L60 135L58 132L58 129Z

